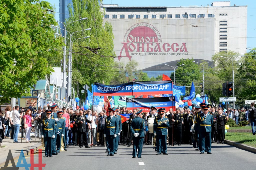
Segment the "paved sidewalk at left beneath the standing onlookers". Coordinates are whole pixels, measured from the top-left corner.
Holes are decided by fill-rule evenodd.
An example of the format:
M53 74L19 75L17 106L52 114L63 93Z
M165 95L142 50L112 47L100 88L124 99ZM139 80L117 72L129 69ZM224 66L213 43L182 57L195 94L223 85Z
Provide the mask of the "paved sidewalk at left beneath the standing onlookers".
M1 145L5 145L6 147L0 149L0 167L5 163L9 150L11 150L15 160L15 158L19 158L21 149L23 149L24 155L26 156L30 154L30 149L34 149L34 151L36 151L37 149L41 148L41 139L35 139L34 133L31 133L31 139L32 143L26 143L26 140L22 140L21 143L21 133L18 135L18 141L20 143L13 143L13 139L4 138Z

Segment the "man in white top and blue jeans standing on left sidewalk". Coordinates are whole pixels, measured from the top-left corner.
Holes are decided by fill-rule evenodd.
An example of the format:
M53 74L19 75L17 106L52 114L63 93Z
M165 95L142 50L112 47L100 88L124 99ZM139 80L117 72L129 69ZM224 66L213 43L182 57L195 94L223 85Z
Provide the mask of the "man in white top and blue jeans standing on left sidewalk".
M22 118L23 113L19 114L18 110L19 110L19 106L15 106L15 110L13 111L13 126L14 126L13 143L19 143L18 142L19 125L20 125L20 118Z

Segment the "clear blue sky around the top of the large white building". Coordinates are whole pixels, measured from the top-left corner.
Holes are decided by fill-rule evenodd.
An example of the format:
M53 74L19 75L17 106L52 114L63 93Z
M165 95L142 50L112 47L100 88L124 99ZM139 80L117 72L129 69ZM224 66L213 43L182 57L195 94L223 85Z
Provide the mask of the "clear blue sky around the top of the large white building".
M46 0L50 2L52 5L55 5L56 11L59 12L59 0ZM217 0L215 0L217 1ZM119 6L207 6L207 4L211 5L213 1L206 0L194 0L194 1L174 1L174 0L104 0L103 4L118 4ZM236 4L239 5L248 5L247 10L247 47L253 48L256 47L256 1L255 0L234 0L230 1L230 5L233 6ZM56 20L59 19L59 13L56 13ZM249 52L249 50L248 50Z

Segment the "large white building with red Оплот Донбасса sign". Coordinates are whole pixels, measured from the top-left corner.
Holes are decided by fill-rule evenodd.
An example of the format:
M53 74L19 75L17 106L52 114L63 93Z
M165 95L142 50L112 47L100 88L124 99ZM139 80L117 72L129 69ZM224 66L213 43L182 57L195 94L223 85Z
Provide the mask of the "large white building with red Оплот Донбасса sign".
M120 7L102 5L113 26L117 61L136 60L148 75L168 74L181 58L210 61L219 51L246 53L247 6Z

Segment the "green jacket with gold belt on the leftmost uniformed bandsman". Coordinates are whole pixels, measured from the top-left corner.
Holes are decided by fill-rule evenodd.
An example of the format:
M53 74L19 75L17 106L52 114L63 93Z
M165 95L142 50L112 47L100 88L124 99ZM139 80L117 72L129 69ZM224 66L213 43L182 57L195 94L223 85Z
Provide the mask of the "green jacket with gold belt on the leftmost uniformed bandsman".
M55 135L56 129L54 118L50 118L49 120L47 118L44 118L42 125L43 126L41 135L44 135L45 138L52 137L52 135Z

